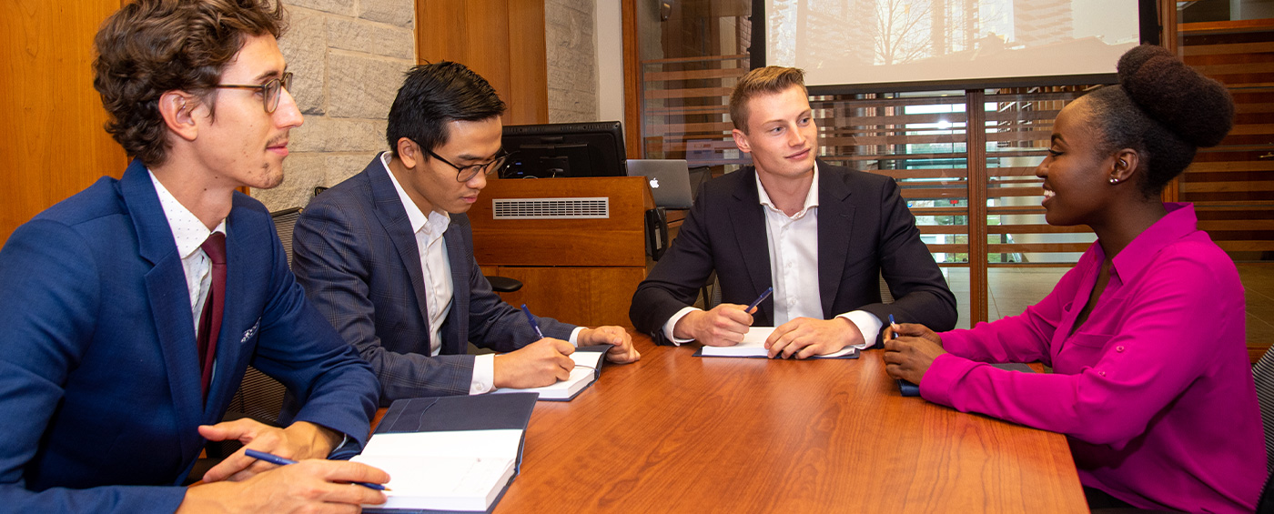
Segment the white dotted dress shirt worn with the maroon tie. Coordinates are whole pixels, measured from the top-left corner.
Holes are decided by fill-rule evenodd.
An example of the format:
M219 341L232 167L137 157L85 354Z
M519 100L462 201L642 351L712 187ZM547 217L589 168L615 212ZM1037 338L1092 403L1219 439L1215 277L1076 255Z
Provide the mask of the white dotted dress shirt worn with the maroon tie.
M172 229L172 238L177 242L177 254L181 256L181 267L186 272L186 290L190 291L190 314L195 318L195 336L199 336L199 318L204 313L204 302L208 299L208 289L213 286L213 261L204 253L203 244L213 232L225 234L225 220L217 224L217 229L209 230L203 221L195 216L190 209L181 205L168 188L159 183L159 178L150 172L150 182L159 195L159 206L168 219L168 228ZM217 377L217 361L213 361L213 377ZM210 388L211 386L209 386Z

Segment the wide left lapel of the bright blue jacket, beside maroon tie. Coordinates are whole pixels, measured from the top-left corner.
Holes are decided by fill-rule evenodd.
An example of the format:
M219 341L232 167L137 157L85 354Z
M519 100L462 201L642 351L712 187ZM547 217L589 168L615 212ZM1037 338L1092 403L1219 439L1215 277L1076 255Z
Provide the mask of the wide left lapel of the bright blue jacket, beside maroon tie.
M154 265L145 276L147 298L164 368L168 370L168 387L182 434L182 452L194 454L199 452L196 445L201 441L194 427L200 424L204 398L199 384L195 319L190 312L186 271L177 256L177 242L172 238L172 228L159 206L150 173L139 160L134 160L124 172L120 195L138 232L138 251L141 258Z

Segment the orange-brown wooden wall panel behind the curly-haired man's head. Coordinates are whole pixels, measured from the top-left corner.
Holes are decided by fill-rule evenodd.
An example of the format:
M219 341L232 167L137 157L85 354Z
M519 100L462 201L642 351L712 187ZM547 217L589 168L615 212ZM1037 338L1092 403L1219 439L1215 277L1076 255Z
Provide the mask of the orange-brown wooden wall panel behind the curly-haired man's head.
M0 246L18 225L124 173L93 89L93 36L120 0L0 3Z

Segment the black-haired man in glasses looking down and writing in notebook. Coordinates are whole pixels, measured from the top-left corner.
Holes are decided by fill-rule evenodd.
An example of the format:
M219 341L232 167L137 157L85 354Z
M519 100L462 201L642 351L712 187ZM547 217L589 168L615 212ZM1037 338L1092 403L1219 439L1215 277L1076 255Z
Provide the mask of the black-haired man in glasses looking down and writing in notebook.
M390 108L390 151L315 197L297 221L297 279L372 364L382 405L548 386L569 377L577 345L614 345L606 358L615 363L640 358L620 327L539 318L538 337L474 261L464 212L503 167L503 112L464 65L414 67ZM466 355L469 341L506 354Z

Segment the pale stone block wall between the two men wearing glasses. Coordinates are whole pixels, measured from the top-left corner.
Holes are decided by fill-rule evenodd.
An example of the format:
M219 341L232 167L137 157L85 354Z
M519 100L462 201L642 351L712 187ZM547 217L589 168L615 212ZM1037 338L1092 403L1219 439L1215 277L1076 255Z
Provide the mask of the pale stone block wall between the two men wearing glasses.
M252 190L270 210L304 206L315 186L363 170L387 149L385 118L415 64L414 0L283 0L279 47L304 115L293 128L283 184Z

